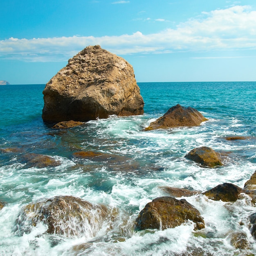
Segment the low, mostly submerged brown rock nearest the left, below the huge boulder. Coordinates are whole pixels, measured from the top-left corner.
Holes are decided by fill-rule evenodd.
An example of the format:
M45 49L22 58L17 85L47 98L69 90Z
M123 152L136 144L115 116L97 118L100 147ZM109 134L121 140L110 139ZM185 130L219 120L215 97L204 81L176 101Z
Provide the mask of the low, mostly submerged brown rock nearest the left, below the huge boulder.
M61 165L61 162L50 157L49 155L40 155L40 154L28 154L24 156L27 164L25 168L45 168L45 167L55 167Z

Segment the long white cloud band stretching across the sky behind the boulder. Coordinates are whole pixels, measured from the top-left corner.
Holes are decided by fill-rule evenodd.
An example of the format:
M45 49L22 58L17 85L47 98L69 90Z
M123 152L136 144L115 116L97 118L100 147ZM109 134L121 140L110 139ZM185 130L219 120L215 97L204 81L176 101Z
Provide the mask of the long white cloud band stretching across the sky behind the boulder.
M0 40L0 58L25 61L67 61L88 45L101 45L115 54L168 53L256 49L256 11L249 6L203 13L175 29L155 34L136 32L121 36L71 36Z

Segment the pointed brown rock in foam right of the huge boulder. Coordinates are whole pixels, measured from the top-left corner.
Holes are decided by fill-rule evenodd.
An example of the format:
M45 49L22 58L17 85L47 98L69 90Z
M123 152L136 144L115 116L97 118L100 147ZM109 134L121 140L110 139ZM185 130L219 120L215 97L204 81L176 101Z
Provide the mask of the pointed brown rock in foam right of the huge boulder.
M207 119L198 110L184 108L177 104L171 107L162 117L150 123L145 130L166 129L180 126L199 126Z

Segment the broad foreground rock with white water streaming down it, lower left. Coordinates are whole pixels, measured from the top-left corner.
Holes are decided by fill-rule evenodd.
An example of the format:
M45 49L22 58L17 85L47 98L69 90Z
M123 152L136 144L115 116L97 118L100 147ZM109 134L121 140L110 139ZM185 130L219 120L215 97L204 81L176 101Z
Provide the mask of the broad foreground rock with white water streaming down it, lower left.
M73 196L55 196L22 207L15 231L22 235L43 222L49 234L88 238L97 234L107 216L108 210L102 205L91 204Z

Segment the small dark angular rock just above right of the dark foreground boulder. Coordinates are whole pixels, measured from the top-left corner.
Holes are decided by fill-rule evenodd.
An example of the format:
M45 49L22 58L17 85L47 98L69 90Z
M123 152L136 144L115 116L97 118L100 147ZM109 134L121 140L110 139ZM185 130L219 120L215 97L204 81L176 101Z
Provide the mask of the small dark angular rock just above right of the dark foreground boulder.
M231 183L223 183L210 189L204 193L211 200L222 200L223 202L235 202L238 200L238 195L243 192L239 186Z

